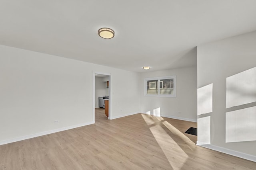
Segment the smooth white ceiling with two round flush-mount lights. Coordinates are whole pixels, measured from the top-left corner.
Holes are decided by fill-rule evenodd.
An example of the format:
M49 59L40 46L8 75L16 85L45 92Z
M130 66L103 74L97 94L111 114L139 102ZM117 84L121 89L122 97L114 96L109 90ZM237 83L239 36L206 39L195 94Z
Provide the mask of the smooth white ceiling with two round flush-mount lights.
M144 72L194 65L197 45L256 30L256 0L1 0L0 23L2 45Z

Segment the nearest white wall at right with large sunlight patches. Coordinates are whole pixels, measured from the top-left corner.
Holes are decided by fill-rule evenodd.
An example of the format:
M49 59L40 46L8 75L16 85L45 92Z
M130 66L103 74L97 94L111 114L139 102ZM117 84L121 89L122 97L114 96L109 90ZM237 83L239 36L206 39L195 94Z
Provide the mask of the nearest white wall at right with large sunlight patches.
M199 144L256 156L255 66L256 31L198 46Z

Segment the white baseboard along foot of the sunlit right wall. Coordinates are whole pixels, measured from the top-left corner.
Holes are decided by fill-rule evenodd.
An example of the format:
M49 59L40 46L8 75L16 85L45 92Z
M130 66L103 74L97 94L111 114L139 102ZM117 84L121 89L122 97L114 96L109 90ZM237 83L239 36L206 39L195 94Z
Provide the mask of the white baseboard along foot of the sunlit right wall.
M251 160L253 162L256 162L256 156L254 155L250 155L250 154L246 154L246 153L242 153L242 152L238 152L235 150L231 150L231 149L226 149L226 148L222 148L222 147L218 147L216 145L211 145L211 144L206 144L204 145L203 143L201 143L200 141L196 142L196 145L200 146L200 147L204 147L204 148L208 148L208 149L212 149L212 150L216 150L218 152L222 152L222 153L226 153L226 154L230 154L239 158L243 158L243 159L247 159L247 160Z

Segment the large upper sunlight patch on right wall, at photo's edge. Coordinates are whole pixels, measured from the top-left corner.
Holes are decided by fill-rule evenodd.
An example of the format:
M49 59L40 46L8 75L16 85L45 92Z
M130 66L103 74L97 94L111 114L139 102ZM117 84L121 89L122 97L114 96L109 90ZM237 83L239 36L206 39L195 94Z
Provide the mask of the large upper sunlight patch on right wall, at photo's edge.
M226 78L226 108L256 102L256 67Z

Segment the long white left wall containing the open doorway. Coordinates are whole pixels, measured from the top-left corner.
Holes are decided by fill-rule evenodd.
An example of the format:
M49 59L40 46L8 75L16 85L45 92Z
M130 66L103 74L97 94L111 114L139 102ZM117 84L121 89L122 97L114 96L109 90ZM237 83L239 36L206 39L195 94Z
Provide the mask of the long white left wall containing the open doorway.
M112 76L113 118L140 112L138 73L0 45L0 144L94 123L94 71Z

